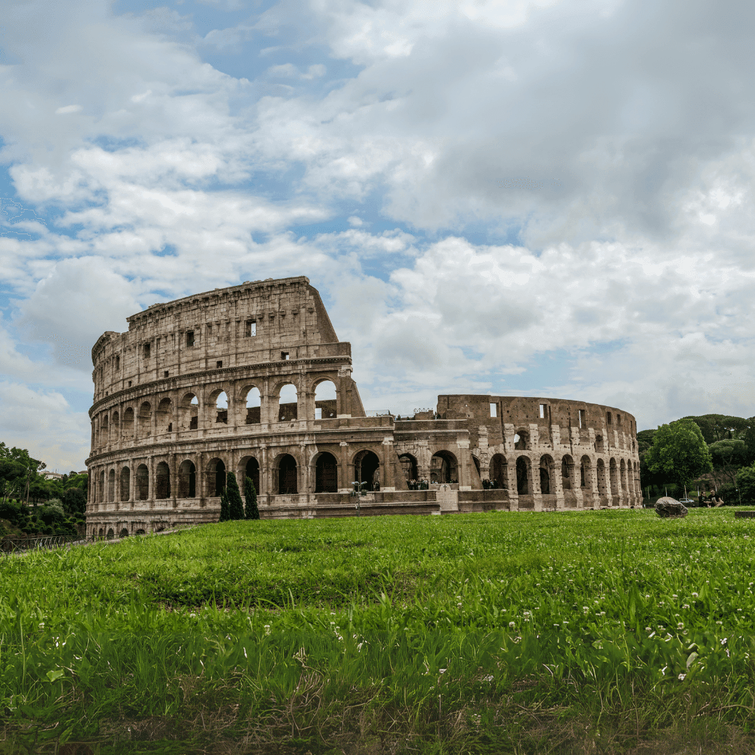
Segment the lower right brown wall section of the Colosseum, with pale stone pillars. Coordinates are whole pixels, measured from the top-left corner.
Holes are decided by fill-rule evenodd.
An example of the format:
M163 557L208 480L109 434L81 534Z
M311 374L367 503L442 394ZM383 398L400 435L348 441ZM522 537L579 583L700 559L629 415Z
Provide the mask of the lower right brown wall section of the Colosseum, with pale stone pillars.
M627 411L565 399L467 394L438 396L437 412L466 421L480 476L494 479L494 467L500 476L503 466L520 508L642 502L636 421ZM524 485L520 458L527 467Z

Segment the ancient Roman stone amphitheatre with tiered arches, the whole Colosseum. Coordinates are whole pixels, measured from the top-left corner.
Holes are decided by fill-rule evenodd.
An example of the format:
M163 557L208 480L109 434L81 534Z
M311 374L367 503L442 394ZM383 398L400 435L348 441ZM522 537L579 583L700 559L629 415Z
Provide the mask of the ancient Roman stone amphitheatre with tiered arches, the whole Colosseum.
M265 518L641 501L636 424L615 407L455 395L411 418L365 411L351 345L304 276L153 304L92 362L89 536L217 521L229 471Z

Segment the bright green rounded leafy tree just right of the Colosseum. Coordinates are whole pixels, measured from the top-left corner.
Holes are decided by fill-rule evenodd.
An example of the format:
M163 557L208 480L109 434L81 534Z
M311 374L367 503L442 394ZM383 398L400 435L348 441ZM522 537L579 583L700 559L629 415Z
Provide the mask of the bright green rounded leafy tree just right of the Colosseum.
M651 472L661 473L680 485L689 485L695 477L713 471L703 434L690 419L658 427L646 460Z

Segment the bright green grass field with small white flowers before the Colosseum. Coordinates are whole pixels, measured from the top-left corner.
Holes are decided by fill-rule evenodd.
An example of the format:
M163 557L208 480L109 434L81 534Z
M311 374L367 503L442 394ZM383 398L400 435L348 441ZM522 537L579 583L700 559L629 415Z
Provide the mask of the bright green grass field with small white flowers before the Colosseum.
M753 545L730 509L603 510L5 557L0 752L751 751Z

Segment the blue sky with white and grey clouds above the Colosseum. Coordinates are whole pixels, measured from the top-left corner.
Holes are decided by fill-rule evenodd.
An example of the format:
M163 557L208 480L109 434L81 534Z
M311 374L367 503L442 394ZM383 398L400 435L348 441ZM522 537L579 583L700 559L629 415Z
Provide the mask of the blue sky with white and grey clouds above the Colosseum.
M2 5L9 445L82 469L103 331L291 275L367 408L755 414L752 2Z

